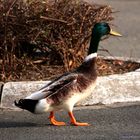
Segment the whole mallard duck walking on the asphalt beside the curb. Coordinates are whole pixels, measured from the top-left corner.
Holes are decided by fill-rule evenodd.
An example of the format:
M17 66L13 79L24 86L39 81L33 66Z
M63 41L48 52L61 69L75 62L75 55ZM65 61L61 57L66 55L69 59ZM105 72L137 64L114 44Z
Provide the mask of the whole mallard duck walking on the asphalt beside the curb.
M96 57L99 41L104 35L121 36L113 32L107 23L96 23L92 29L88 55L83 63L71 72L54 79L52 82L31 94L25 99L15 101L15 105L32 113L50 112L50 122L53 125L65 125L55 119L54 112L66 110L70 122L76 126L88 126L88 123L77 122L73 107L78 102L88 97L96 85Z

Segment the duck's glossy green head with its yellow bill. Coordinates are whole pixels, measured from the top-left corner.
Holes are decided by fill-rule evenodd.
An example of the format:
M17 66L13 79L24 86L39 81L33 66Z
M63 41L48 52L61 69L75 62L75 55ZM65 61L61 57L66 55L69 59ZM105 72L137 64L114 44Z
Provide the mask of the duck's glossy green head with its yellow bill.
M100 22L96 23L92 30L92 35L97 37L102 37L104 35L114 35L114 36L121 36L119 33L112 31L108 23Z

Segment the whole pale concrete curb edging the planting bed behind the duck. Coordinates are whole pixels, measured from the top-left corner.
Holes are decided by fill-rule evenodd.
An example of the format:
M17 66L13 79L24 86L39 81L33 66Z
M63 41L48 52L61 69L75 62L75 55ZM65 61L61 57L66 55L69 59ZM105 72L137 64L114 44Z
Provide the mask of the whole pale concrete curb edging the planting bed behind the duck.
M104 59L124 60L140 63L134 58L103 57ZM95 104L113 104L117 102L140 101L140 69L125 74L98 77L93 94L78 104L80 106ZM1 108L17 109L13 102L30 95L50 81L8 82L4 84L1 96Z

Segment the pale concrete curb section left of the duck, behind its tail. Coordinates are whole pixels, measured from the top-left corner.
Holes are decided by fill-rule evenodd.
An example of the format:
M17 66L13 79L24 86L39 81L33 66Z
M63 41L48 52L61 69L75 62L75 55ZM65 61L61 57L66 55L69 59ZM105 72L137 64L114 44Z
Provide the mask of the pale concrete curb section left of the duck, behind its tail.
M14 101L39 90L48 81L7 82L3 86L1 108L15 108Z

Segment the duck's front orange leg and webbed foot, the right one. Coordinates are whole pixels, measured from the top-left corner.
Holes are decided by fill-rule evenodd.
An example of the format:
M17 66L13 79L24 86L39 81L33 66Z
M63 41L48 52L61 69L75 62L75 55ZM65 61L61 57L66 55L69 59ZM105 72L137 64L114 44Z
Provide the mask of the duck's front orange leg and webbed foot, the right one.
M68 112L68 114L70 116L71 124L73 124L75 126L89 126L88 123L77 122L72 112Z

